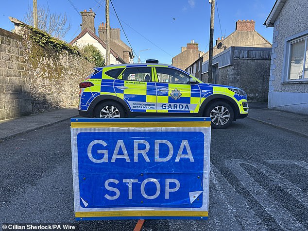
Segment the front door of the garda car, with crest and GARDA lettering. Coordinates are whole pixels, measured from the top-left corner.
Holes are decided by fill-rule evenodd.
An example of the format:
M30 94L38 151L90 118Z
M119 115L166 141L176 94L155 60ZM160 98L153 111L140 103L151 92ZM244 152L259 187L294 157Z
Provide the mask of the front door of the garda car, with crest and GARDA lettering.
M157 113L198 113L200 88L190 76L171 67L155 67Z

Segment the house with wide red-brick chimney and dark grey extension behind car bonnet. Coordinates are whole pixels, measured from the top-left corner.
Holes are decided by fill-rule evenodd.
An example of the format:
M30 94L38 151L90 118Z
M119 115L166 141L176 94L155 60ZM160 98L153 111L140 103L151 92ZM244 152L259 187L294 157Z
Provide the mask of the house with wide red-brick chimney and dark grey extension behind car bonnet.
M254 20L238 20L235 31L213 47L213 83L240 87L249 101L267 101L272 44L255 31ZM186 71L208 78L208 52ZM253 83L253 84L252 84Z

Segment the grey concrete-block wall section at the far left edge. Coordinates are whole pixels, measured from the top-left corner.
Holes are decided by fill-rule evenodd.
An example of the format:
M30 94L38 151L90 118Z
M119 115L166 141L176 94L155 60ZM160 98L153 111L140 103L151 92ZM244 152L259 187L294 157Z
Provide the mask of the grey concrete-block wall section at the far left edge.
M0 28L0 120L32 113L22 38Z

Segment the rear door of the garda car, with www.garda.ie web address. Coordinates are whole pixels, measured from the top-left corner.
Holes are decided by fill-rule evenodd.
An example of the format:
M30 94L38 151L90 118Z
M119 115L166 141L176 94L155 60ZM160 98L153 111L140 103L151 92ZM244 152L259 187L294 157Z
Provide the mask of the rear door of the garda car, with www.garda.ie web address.
M131 112L156 112L156 87L153 69L147 66L127 67L114 82L117 97Z

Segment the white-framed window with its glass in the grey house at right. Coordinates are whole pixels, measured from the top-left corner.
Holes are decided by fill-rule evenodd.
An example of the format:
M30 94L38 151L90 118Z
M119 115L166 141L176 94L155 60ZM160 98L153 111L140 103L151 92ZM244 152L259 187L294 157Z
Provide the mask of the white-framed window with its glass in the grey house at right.
M288 80L308 80L308 36L289 43Z

